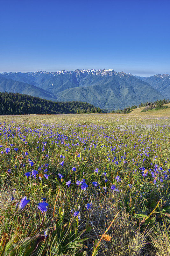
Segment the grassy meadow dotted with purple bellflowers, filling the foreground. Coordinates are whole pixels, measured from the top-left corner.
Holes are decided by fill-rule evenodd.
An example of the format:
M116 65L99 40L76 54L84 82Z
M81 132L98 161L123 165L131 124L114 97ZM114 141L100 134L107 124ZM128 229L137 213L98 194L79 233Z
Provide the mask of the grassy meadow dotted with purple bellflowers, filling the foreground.
M169 109L0 116L0 256L170 255Z

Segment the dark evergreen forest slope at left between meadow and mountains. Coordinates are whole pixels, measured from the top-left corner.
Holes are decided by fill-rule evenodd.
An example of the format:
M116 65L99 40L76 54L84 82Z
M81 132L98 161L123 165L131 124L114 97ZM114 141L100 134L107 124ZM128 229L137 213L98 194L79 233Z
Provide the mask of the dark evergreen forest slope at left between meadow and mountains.
M0 92L0 115L102 113L81 101L55 102L18 92Z

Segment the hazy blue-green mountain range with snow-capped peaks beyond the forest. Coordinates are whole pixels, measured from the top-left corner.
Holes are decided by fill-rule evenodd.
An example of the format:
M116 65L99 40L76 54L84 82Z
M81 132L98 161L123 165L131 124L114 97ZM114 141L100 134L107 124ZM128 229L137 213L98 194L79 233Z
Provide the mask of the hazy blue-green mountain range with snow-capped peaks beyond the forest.
M137 77L113 69L0 73L0 92L55 101L79 100L105 109L170 99L170 75Z

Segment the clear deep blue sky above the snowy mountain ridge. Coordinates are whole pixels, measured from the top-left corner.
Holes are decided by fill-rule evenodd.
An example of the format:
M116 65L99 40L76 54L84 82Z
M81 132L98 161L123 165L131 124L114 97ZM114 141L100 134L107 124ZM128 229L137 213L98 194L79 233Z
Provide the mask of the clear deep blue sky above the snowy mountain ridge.
M170 74L170 1L1 1L0 72Z

